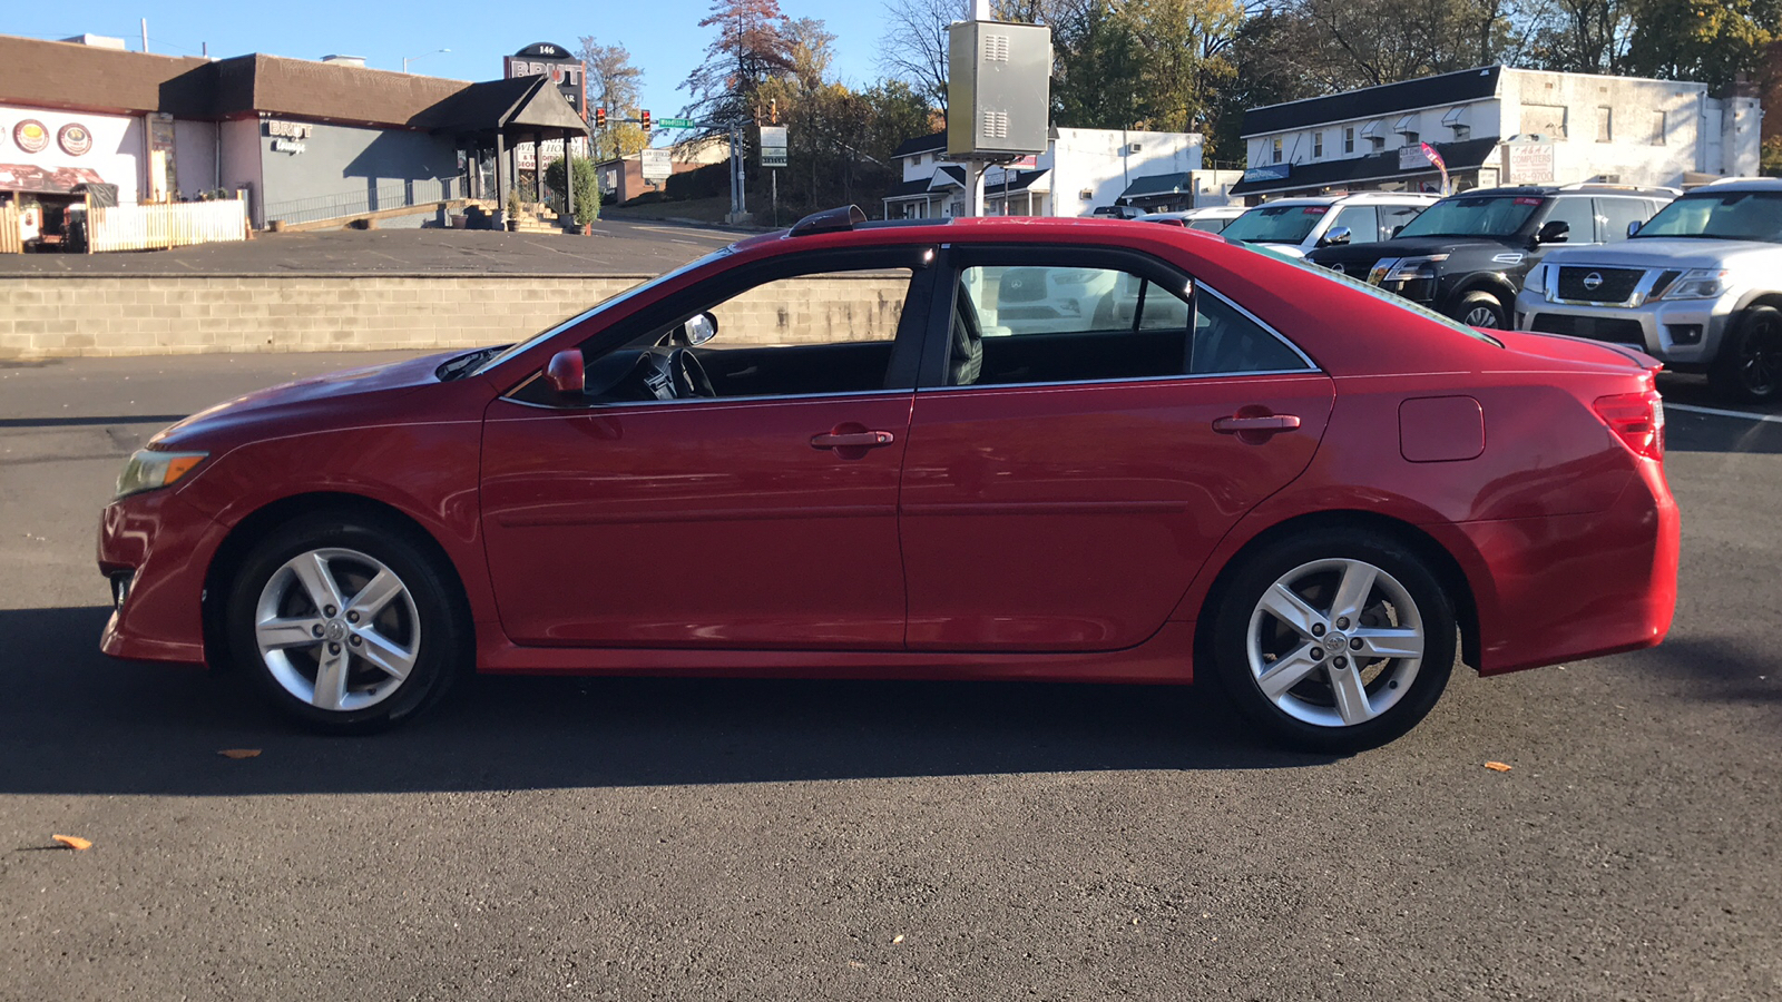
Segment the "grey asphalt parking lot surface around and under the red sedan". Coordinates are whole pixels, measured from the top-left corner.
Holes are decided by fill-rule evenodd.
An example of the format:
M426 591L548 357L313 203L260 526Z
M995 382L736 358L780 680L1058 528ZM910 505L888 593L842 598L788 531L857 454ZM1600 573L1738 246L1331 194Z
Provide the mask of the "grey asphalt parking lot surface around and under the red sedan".
M1778 414L1664 380L1663 647L1458 672L1354 758L975 683L478 679L319 738L102 656L125 455L385 358L0 364L0 998L1782 997Z

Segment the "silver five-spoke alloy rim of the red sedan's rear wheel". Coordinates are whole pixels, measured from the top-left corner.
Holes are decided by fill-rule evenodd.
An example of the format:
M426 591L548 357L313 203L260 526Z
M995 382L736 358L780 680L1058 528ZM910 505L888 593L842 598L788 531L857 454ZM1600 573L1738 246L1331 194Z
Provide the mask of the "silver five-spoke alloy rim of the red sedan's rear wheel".
M1263 592L1246 654L1262 695L1283 713L1353 727L1404 699L1424 642L1404 585L1372 563L1333 558L1303 563Z

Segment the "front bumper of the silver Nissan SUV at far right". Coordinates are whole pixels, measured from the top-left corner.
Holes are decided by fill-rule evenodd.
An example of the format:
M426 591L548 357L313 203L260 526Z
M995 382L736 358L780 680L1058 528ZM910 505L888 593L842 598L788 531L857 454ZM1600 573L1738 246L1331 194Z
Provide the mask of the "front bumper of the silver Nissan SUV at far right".
M1549 301L1524 289L1516 296L1516 330L1570 333L1632 344L1670 365L1707 365L1732 323L1737 300L1657 300L1638 307Z

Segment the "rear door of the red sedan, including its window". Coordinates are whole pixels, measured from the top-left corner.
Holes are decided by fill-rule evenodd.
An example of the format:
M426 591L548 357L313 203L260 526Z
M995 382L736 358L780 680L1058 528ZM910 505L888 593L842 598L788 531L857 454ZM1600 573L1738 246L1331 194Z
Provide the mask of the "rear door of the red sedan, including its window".
M1312 460L1331 380L1142 255L950 257L903 460L909 647L1140 644Z

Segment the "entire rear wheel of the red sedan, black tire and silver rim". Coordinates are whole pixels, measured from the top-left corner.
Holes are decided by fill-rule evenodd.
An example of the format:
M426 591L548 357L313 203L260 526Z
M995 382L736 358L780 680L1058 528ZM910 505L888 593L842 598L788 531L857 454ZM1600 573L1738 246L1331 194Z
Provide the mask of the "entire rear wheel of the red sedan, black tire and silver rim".
M1215 612L1212 669L1279 743L1354 752L1399 738L1435 708L1454 637L1454 604L1420 556L1370 531L1319 531L1271 544L1237 571Z

